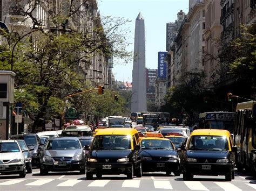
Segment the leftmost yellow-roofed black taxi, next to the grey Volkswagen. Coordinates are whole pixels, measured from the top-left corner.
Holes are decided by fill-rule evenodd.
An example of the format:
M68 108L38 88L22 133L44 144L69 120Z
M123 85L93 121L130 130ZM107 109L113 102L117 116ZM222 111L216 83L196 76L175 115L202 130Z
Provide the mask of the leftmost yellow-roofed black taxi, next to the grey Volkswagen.
M136 129L108 128L96 132L86 157L86 179L93 174L102 178L103 174L126 174L142 176L142 151Z

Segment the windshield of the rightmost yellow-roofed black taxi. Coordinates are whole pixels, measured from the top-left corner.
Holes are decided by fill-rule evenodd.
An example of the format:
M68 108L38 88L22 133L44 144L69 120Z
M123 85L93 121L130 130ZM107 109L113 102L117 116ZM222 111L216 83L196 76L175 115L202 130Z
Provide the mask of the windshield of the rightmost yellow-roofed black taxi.
M225 136L192 136L188 150L227 151L228 141Z

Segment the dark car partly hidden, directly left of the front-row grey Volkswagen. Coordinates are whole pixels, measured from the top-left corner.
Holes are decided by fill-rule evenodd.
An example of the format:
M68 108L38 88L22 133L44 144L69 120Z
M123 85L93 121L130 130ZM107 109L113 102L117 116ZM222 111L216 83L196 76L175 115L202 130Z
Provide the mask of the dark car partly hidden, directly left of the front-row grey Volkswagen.
M29 149L32 149L30 151L31 157L32 157L32 166L39 167L39 155L42 150L42 146L44 144L41 143L40 138L38 135L34 133L28 133L28 134L19 134L19 135L12 135L10 137L11 140L17 140L17 139L23 139L26 142L26 145L28 145Z

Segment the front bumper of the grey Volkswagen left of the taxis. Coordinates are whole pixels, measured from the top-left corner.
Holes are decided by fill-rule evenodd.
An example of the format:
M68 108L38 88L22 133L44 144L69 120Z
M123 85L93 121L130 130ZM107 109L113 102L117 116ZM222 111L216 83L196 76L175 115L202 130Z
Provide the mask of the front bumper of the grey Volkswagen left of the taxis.
M62 172L62 171L80 171L85 168L83 161L66 162L66 165L58 165L55 163L41 163L41 168L46 171Z

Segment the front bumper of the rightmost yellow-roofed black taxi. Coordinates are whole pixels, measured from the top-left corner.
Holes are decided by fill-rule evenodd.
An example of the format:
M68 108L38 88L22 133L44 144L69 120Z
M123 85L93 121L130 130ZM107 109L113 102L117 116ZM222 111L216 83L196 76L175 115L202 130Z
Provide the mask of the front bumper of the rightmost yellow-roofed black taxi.
M233 170L231 163L196 163L185 162L183 170L194 175L226 175Z

